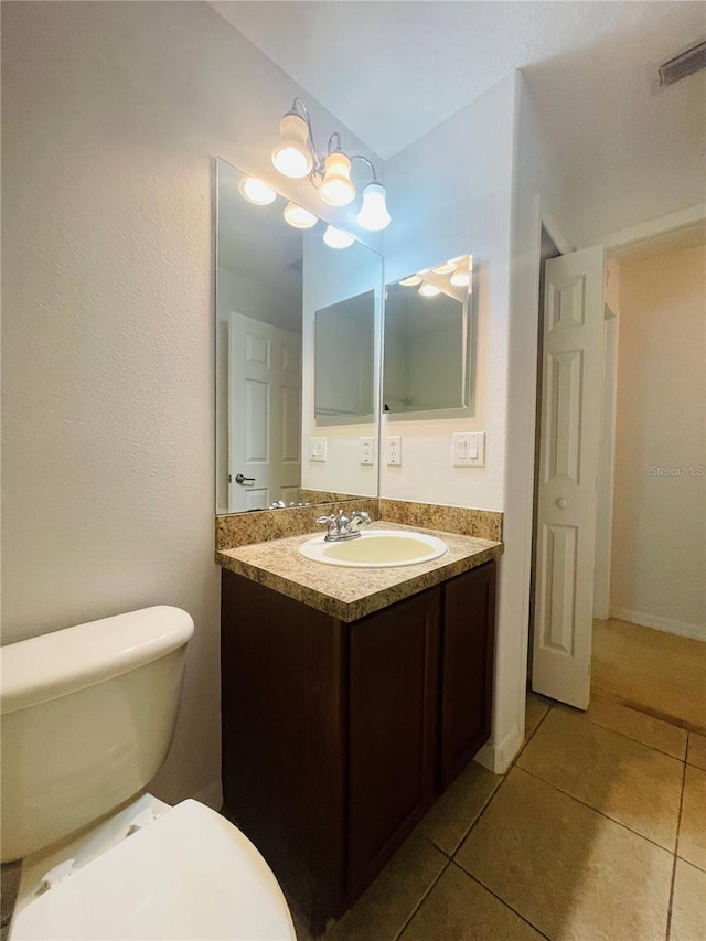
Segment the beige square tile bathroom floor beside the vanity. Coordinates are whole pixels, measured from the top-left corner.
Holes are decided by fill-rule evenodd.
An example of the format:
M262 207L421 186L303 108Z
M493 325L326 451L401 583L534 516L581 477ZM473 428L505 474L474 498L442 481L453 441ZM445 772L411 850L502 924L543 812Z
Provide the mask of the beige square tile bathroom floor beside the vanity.
M325 941L705 941L706 738L531 694L527 739L503 778L471 762Z

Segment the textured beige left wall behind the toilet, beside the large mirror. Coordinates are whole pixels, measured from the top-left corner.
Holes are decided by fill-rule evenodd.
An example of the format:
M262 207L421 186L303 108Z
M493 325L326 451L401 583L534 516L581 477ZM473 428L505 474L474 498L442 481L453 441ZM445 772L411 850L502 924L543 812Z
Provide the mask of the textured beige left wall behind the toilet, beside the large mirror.
M2 93L3 641L190 611L157 791L215 801L211 158L271 179L306 93L189 2L3 4Z

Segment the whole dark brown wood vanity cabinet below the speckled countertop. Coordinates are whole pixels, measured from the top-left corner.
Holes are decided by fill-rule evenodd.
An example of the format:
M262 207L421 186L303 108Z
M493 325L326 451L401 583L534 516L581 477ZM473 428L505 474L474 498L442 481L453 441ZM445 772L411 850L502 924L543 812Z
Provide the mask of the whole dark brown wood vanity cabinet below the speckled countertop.
M344 622L223 571L225 812L314 932L486 740L494 581L490 562Z

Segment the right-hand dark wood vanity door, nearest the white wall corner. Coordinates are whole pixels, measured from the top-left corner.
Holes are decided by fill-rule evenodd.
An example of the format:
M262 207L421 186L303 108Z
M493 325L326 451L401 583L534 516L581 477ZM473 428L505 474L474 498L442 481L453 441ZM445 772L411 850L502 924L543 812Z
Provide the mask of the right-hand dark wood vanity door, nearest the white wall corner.
M490 738L495 563L443 586L439 789L445 790Z

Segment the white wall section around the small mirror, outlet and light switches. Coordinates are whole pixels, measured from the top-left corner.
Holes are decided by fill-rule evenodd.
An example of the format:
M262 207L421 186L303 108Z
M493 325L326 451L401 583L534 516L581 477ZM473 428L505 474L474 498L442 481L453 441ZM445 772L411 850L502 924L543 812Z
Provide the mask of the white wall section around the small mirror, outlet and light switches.
M403 463L383 453L381 496L503 509L513 108L510 75L386 163L385 280L471 253L478 353L473 417L383 418L382 450L400 435ZM452 467L453 431L485 431L484 468Z

